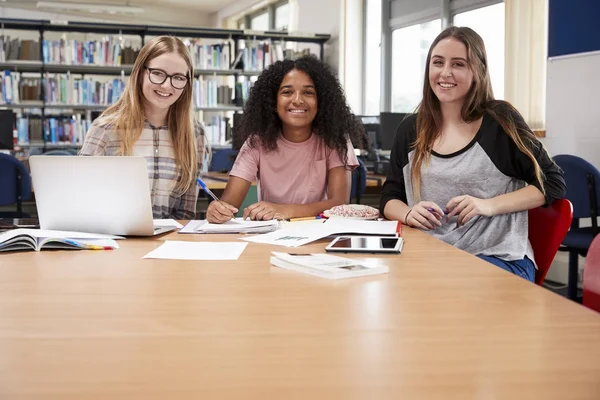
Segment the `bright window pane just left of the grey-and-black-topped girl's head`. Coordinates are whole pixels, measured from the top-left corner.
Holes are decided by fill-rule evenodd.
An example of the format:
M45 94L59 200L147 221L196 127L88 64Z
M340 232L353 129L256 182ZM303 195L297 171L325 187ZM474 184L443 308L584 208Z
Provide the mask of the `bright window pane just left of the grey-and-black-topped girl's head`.
M392 112L413 112L421 102L427 53L441 26L436 19L392 32Z

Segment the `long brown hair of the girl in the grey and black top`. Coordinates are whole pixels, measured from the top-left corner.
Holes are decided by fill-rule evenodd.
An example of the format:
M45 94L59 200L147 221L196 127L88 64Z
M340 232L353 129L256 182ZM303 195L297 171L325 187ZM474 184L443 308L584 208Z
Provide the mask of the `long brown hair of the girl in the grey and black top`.
M471 28L451 26L435 38L429 48L429 53L427 53L423 100L417 111L417 140L413 144L415 154L411 166L411 181L415 200L419 201L421 198L421 166L423 163L429 162L433 143L442 130L442 111L440 102L429 83L429 67L433 49L446 38L454 38L465 45L467 48L467 63L473 72L473 83L464 98L460 112L461 118L469 123L478 120L486 112L490 114L515 142L519 150L531 159L535 168L535 176L540 183L540 187L543 188L542 170L528 147L536 140L533 132L526 124L517 126L512 115L518 114L518 111L512 105L505 101L494 100L483 39Z

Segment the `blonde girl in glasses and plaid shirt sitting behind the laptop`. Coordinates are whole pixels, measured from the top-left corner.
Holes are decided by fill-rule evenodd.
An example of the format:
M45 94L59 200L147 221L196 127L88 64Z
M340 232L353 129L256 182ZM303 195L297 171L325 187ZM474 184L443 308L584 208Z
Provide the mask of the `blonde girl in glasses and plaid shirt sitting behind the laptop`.
M192 74L181 40L160 36L148 41L123 95L94 121L79 153L145 157L154 218L196 215L196 178L207 150L204 131L193 117Z

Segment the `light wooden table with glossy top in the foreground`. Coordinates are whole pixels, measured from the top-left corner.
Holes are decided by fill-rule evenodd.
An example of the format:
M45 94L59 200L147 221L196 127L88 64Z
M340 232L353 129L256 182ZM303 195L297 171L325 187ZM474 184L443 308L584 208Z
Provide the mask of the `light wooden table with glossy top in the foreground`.
M271 267L256 243L237 262L142 260L236 236L2 254L0 399L600 398L600 315L404 236L389 274L345 281Z

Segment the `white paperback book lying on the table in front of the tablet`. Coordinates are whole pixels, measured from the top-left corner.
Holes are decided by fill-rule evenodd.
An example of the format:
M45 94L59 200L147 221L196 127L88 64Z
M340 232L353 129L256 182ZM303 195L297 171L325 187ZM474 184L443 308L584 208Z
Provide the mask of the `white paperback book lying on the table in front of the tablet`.
M271 254L273 254L271 264L276 267L327 279L354 278L389 272L389 268L385 265L364 264L350 258L329 254L289 254L277 251Z

